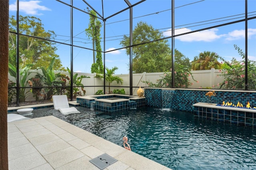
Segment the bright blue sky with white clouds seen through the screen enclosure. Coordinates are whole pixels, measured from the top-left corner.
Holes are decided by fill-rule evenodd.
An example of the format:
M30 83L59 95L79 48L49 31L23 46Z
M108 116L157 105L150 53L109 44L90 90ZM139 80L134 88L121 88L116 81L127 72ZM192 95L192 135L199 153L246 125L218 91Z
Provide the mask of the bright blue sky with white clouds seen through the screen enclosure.
M70 3L69 0L64 0ZM91 6L100 12L101 0L89 0ZM132 4L138 0L130 0ZM115 6L113 8L113 5ZM53 30L56 40L69 43L70 41L70 9L56 0L20 0L20 15L35 16L42 20L45 30ZM57 7L58 6L58 7ZM75 0L74 6L87 10L82 0ZM122 0L104 0L104 17L127 7ZM232 22L239 17L244 17L244 0L179 0L175 2L175 34L182 34L193 30L210 27L225 22ZM16 14L16 1L10 0L10 15ZM154 29L159 29L164 36L171 34L171 2L170 0L147 0L133 8L133 28L136 23L143 21ZM256 1L248 0L249 15L256 16ZM102 12L100 12L102 15ZM88 40L84 29L88 27L88 16L74 10L74 45L92 48L91 40ZM248 16L250 17L250 16ZM118 49L123 35L129 34L129 11L124 11L117 16L106 20L106 51ZM240 18L241 19L241 18ZM226 21L224 21L226 20ZM185 36L175 38L175 48L190 60L193 60L200 52L214 51L226 60L232 57L238 60L241 57L234 49L234 44L243 51L244 22L213 28ZM102 27L103 30L103 27ZM103 36L103 32L101 34ZM170 43L170 42L169 42ZM70 47L57 44L56 53L60 55L64 67L70 67ZM103 43L102 43L103 49ZM256 22L248 21L248 57L256 60ZM106 67L117 66L116 74L127 74L129 58L125 50L117 50L106 53ZM74 48L74 71L90 73L92 52Z

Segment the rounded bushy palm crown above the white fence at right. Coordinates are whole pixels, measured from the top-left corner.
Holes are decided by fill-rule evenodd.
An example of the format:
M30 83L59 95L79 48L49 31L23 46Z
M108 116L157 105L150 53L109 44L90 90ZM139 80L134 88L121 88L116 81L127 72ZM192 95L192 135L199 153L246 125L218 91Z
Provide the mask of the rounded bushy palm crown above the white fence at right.
M220 69L220 67L221 63L218 61L218 54L215 52L201 52L198 56L194 57L192 61L193 70Z

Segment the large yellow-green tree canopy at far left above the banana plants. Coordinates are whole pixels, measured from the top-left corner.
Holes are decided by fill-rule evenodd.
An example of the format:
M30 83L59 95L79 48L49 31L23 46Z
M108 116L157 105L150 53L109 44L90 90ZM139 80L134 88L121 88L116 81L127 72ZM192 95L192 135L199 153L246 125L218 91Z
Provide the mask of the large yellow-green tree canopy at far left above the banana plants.
M16 32L16 19L10 17L10 32ZM38 67L47 67L52 58L55 57L54 70L66 71L62 67L59 56L55 53L55 43L47 40L54 40L55 33L53 31L45 31L44 25L39 18L34 16L19 17L19 65L20 68L25 67L29 63L34 63L31 69ZM33 37L28 37L28 36ZM44 38L40 40L34 37ZM16 65L16 34L9 33L9 63Z

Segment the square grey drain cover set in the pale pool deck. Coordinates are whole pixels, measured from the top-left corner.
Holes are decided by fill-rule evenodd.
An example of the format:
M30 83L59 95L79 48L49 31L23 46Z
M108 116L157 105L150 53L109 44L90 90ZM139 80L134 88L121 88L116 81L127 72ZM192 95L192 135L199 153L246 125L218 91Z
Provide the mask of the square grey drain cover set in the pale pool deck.
M101 170L103 170L111 164L114 164L117 160L115 158L112 158L108 154L103 154L89 161Z

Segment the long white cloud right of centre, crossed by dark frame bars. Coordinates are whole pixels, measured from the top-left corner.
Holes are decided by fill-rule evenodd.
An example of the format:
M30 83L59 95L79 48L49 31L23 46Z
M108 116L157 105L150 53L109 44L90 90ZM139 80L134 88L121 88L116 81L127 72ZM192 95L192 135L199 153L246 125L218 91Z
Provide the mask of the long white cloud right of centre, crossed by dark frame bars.
M191 31L192 30L188 28L181 28L181 29L175 30L175 35L191 32ZM180 40L182 42L199 42L199 41L212 42L222 37L222 35L216 34L217 31L218 31L217 28L212 28L210 30L204 30L200 32L194 32L191 34L186 34L184 36L178 36L175 39ZM164 36L171 36L171 33L172 33L171 30L168 30L168 32L164 33Z

